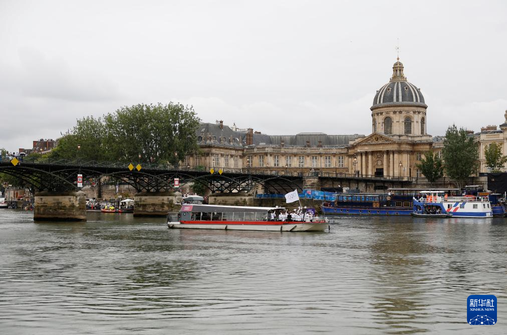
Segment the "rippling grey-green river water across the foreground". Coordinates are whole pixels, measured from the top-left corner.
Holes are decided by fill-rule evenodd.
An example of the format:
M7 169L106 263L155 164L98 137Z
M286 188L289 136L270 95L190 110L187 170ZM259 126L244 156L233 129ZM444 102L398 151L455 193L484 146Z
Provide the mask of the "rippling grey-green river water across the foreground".
M0 211L0 333L507 332L507 219L335 217L331 232ZM498 323L466 323L494 294Z

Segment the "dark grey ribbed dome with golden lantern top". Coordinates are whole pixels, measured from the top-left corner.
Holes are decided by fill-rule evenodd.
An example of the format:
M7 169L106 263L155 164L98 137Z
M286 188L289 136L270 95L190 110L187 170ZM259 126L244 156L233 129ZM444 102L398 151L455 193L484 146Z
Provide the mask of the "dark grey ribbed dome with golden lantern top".
M377 108L386 105L418 105L427 107L424 96L419 88L407 81L403 74L403 63L400 58L392 66L392 77L375 94L373 106Z

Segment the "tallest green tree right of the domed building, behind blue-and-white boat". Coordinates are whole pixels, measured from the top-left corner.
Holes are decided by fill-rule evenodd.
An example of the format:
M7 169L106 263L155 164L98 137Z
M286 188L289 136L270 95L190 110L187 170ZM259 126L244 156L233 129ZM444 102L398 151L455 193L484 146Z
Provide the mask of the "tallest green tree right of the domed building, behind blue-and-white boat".
M453 124L447 128L442 154L447 176L461 189L478 170L478 143L467 135L465 129L458 130Z

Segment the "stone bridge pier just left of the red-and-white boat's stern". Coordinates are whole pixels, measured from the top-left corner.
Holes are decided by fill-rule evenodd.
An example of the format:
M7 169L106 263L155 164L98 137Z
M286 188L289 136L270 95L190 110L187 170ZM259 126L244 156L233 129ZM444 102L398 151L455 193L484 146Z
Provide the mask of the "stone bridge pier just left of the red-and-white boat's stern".
M139 192L134 195L134 216L166 216L178 212L181 202L179 192Z

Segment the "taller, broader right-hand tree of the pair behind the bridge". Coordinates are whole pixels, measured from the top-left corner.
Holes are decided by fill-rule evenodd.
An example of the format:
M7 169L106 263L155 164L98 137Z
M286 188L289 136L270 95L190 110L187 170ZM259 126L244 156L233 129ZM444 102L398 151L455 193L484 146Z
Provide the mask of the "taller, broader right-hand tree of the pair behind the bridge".
M108 151L113 160L176 164L198 150L199 118L193 107L139 104L104 117Z

